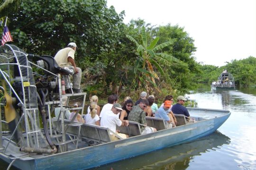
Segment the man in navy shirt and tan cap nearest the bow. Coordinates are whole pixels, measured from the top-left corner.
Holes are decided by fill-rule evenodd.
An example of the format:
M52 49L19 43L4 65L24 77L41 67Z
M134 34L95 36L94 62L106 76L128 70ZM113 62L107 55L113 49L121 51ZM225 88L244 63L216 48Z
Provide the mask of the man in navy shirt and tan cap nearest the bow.
M186 120L189 121L190 120L190 118L189 118L190 114L189 114L187 108L185 108L183 106L185 101L187 101L187 99L184 96L178 96L177 97L177 103L173 105L172 111L173 111L174 114L183 114L183 115L185 115Z

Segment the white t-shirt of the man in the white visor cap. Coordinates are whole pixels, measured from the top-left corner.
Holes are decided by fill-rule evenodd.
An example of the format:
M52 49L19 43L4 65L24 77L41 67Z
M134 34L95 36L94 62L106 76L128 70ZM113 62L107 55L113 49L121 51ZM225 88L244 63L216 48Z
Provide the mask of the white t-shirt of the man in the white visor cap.
M110 130L116 132L116 127L121 126L122 121L119 116L113 113L112 110L106 111L103 117L101 117L101 126L108 127ZM112 135L112 133L110 133Z

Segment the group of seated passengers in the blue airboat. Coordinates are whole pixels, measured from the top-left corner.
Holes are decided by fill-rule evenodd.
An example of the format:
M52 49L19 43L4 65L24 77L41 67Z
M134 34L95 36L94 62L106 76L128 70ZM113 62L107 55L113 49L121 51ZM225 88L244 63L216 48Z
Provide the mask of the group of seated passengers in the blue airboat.
M77 110L70 114L69 119L72 120L73 116L77 115L74 121L109 128L112 141L129 137L127 134L119 133L119 130L116 129L117 126L128 126L129 121L139 123L141 134L157 131L155 127L147 126L146 117L164 119L165 128L176 127L177 119L174 114L184 115L187 122L194 121L190 119L188 110L183 106L187 101L183 96L178 96L177 103L173 105L173 96L167 95L159 108L155 103L154 95L149 95L148 98L146 96L146 92L140 93L140 98L135 103L133 103L131 97L127 96L121 106L118 103L118 95L113 94L108 97L108 103L101 110L100 106L97 105L99 99L94 95L90 98L91 103L84 119L80 114L76 113ZM74 107L78 107L78 105L75 104Z

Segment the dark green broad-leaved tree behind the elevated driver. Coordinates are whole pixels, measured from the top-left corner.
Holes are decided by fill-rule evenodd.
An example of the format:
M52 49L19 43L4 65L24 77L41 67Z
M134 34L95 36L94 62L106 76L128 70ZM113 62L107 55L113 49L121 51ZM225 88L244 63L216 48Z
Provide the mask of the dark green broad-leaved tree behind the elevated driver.
M48 54L76 42L77 59L101 59L119 42L123 12L107 8L105 0L23 0L10 16L14 42L25 51Z

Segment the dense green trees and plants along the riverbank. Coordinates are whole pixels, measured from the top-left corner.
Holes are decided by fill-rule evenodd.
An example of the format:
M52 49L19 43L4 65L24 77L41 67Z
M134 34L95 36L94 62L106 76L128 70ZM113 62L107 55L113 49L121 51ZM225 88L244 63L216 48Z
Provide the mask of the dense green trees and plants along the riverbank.
M117 14L105 0L15 2L13 10L0 11L1 17L9 17L11 43L27 53L55 56L76 42L75 60L89 96L117 93L137 99L147 91L163 101L168 94L189 93L198 83L210 84L225 68L238 85L256 84L256 58L222 67L201 65L193 57L194 40L183 27L152 26L142 19L124 24L125 12Z

